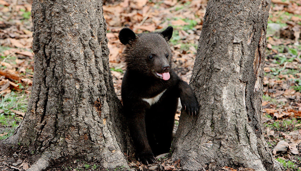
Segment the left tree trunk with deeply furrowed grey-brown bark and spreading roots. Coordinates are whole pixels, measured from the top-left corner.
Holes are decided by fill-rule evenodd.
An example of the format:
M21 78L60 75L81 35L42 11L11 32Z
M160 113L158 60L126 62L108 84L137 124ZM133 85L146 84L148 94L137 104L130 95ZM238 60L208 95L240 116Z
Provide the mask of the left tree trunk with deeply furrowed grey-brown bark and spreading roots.
M109 68L101 1L34 0L34 78L24 120L6 143L40 154L27 171L61 157L125 166L128 136Z

